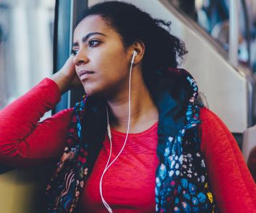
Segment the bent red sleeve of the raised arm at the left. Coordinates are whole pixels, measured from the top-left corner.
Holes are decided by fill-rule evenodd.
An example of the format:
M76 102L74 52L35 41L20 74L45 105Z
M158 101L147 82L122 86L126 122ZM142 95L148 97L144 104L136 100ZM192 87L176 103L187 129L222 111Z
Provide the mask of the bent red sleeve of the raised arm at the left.
M38 165L60 156L73 109L39 122L59 100L58 85L46 78L0 111L1 164Z

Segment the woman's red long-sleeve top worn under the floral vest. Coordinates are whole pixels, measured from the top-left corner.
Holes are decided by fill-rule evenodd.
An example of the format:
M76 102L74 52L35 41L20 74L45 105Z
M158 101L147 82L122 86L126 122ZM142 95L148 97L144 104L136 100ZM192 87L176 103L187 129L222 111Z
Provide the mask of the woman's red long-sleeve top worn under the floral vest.
M0 111L1 164L10 166L40 165L51 162L53 159L57 159L62 155L70 117L74 109L60 111L52 117L45 119L45 121L39 122L43 114L53 109L59 100L60 90L58 86L54 81L46 78L33 87L32 90L24 94L24 96L18 98ZM205 155L209 184L215 195L218 208L221 212L256 212L256 186L232 134L219 117L208 109L200 109L200 119L202 120L202 125L200 125L202 132L201 151ZM147 134L141 132L134 136L139 136L140 139L143 139L140 141L145 141L143 137L146 137L148 134L153 134L151 138L154 138L154 136L156 136L156 126L155 124L150 129L146 130ZM119 144L118 142L123 142L123 135L120 132L112 130L112 134L116 137L117 146ZM96 180L98 180L102 174L100 169L106 165L104 155L109 151L107 140L108 139L105 140L105 145L102 147L100 155L96 160L93 173L89 177L89 180L87 180L87 183L90 184L86 184L84 187L83 195L79 203L81 211L85 210L85 208L91 208L95 212L104 210L104 206L100 203L101 200L99 199L99 183L96 182ZM123 162L127 163L127 165L135 167L144 166L144 170L142 169L142 173L139 174L140 177L138 177L138 174L137 176L131 174L131 176L138 179L137 182L145 182L145 180L147 180L148 185L154 183L154 166L157 166L158 163L156 152L155 155L153 152L156 149L156 145L157 140L154 140L154 142L152 141L151 143L151 147L144 147L145 149L152 150L152 155L147 155L150 156L147 160L153 163L150 164L151 168L147 168L147 165L142 161L142 159L144 159L143 156L137 154L133 155L132 151L129 152L129 162L125 162L125 158L123 159ZM131 145L131 150L132 149L138 150L138 147ZM143 149L141 149L141 151L143 154ZM123 157L125 157L125 153L123 153ZM120 163L121 159L119 160L117 159ZM123 168L123 166L118 167L118 162L114 163L112 166L113 168L110 167L110 170L116 169L120 171L117 168ZM117 167L115 168L115 166ZM133 169L127 170L126 172L129 174L129 172L133 172L134 170L136 171L136 169ZM154 172L147 172L149 170ZM112 208L119 209L120 212L125 212L125 209L130 210L127 210L127 212L142 212L142 208L144 208L143 205L148 208L148 204L146 202L136 203L137 196L142 196L142 199L140 199L142 201L143 196L147 195L148 200L152 199L152 201L154 201L154 191L152 190L154 187L150 187L149 189L146 189L146 187L143 188L144 193L142 193L141 190L136 190L138 192L134 194L134 185L136 187L138 185L129 179L131 176L127 175L127 180L125 176L122 176L123 180L121 181L117 181L116 175L113 172L106 172L106 176L108 177L105 179L104 176L104 182L108 185L108 190L104 190L104 182L102 189L106 201L108 202L108 199L110 199L110 202L112 202L109 203L110 206L112 204L114 205L114 207L111 206ZM123 187L124 185L126 188ZM118 195L121 203L111 198L111 195L113 195L111 190L114 190L114 187L123 190L120 190ZM118 191L116 191L116 193L118 193ZM131 194L133 196L131 196ZM134 208L133 206L127 206L127 203L129 203L127 199L130 199L130 201L131 199L135 200L130 202L133 203ZM150 208L153 207L154 205L152 204ZM152 209L152 211L154 210Z

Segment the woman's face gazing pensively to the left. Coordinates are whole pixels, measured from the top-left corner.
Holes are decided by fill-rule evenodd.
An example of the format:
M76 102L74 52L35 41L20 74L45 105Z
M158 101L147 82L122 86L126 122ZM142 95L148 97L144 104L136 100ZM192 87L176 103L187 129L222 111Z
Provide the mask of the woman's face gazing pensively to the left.
M98 15L87 16L75 28L74 64L85 92L112 96L127 88L132 49Z

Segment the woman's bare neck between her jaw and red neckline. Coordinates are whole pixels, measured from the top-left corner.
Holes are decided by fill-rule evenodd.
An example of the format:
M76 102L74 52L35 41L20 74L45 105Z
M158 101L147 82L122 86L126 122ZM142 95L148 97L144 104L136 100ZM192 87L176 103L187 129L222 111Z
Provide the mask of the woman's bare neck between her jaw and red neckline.
M142 132L158 121L158 108L141 75L133 75L131 81L130 133ZM129 87L108 100L110 126L119 132L127 132L129 119Z

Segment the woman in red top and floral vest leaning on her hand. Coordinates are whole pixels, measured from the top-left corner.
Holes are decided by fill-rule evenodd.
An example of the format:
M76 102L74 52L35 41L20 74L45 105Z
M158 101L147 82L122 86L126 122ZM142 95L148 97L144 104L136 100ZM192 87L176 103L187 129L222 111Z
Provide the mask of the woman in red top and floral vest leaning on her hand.
M1 111L1 162L39 165L64 149L47 212L255 211L239 148L195 104L194 79L177 69L186 50L169 25L127 3L94 5L63 68ZM37 123L79 83L86 96L74 109Z

